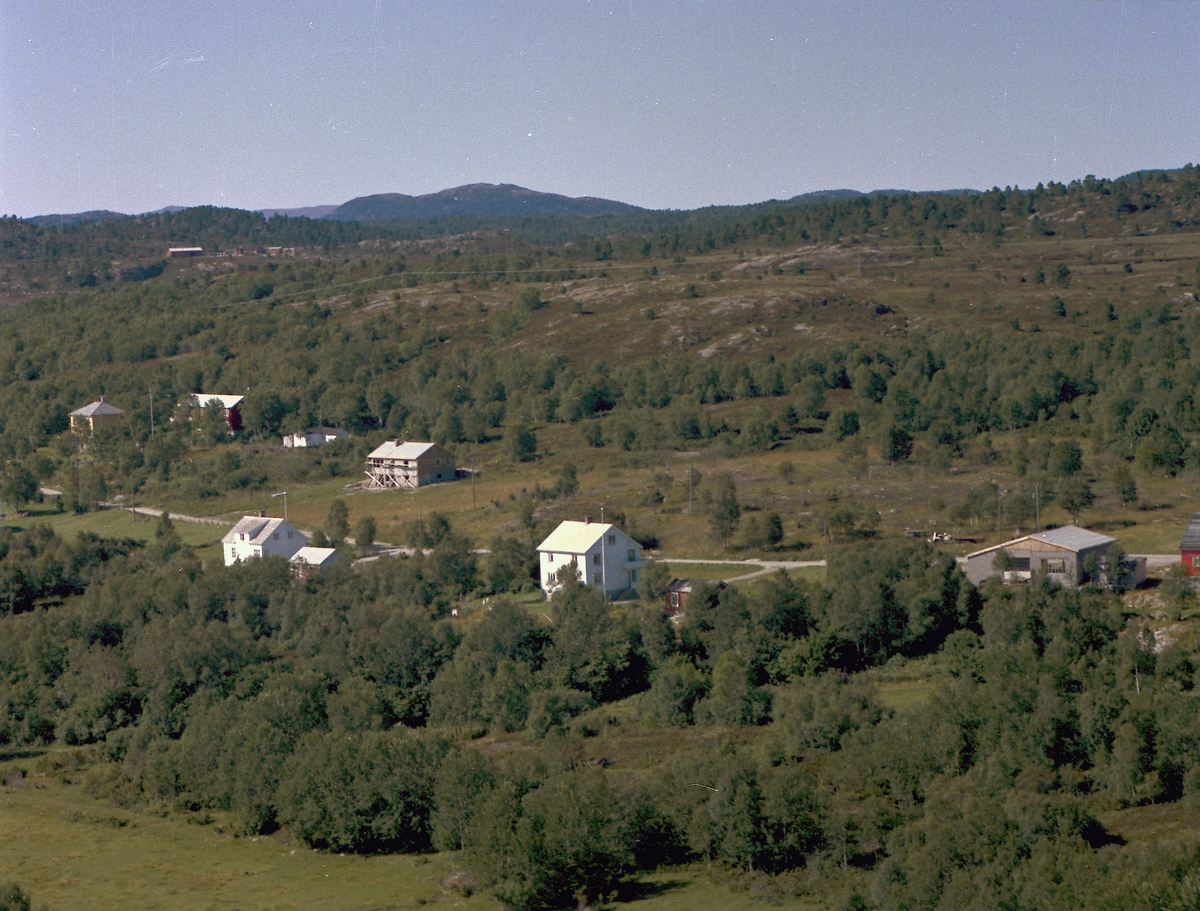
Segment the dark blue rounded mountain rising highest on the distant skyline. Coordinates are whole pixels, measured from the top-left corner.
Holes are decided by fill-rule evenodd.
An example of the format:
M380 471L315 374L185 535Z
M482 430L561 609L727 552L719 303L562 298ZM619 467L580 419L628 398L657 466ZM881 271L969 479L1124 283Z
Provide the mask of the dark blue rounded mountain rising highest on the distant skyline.
M424 196L377 193L362 196L335 209L337 221L391 221L437 218L445 215L514 217L522 215L620 215L644 211L641 206L593 196L569 197L539 193L514 184L467 184Z

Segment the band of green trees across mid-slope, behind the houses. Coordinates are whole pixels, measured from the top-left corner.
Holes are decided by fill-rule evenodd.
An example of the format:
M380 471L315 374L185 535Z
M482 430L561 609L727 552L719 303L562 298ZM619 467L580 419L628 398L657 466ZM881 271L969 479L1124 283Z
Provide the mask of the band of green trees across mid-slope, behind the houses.
M305 270L316 268L283 266L276 281L302 284ZM553 350L502 359L486 338L449 346L416 313L391 311L348 326L319 304L221 308L244 293L221 282L145 286L0 313L0 497L19 505L29 498L20 491L61 472L84 507L106 491L143 489L194 502L295 472L356 472L362 446L392 436L450 446L503 437L521 461L536 454L532 427L548 422L576 424L581 443L618 451L714 442L762 451L826 431L830 442L870 439L888 461L949 461L986 451L989 433L1040 436L1049 426L1087 437L1093 452L1136 461L1144 472L1174 474L1200 457L1200 373L1192 359L1200 317L1165 300L1129 308L1109 323L1111 331L1084 340L968 331L852 342L787 359L588 366ZM77 329L64 331L68 324ZM191 356L174 358L178 352ZM334 424L360 444L308 461L262 448L196 457L194 449L224 440L224 428L168 419L192 392L215 389L250 390L248 442ZM79 463L65 433L67 414L98 394L126 419L100 434ZM750 407L719 415L709 407L728 401ZM833 409L830 401L841 404ZM35 455L52 442L56 457ZM1026 449L1018 474L1051 471L1045 446Z

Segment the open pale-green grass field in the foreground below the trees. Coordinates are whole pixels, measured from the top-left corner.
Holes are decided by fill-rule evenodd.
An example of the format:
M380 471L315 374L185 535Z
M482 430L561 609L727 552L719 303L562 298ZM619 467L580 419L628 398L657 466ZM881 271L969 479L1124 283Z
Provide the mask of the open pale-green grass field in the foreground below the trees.
M36 753L6 754L0 778L0 880L14 879L36 909L55 911L389 911L440 903L497 909L485 894L443 887L454 855L358 857L312 851L286 832L239 838L220 816L148 815L83 795ZM70 774L78 781L79 773ZM203 825L196 825L203 821ZM703 865L665 870L629 883L614 903L659 909L761 909L745 893L713 882ZM815 909L808 903L784 907Z

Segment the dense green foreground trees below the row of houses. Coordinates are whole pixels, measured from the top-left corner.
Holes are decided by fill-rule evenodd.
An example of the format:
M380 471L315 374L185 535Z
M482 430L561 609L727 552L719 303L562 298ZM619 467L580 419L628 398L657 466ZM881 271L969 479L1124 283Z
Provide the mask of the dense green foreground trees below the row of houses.
M1195 875L1187 846L1148 857L1097 820L1200 799L1196 655L1156 651L1105 593L978 591L926 545L871 544L828 587L696 592L678 625L570 580L544 610L464 621L490 571L449 529L432 556L308 583L277 559L200 567L160 532L35 531L0 557L6 579L70 581L0 617L0 742L96 744L90 787L126 805L458 850L518 907L688 859L888 909L1156 907ZM901 714L860 673L931 655L944 683ZM582 760L612 725L713 736L631 774Z

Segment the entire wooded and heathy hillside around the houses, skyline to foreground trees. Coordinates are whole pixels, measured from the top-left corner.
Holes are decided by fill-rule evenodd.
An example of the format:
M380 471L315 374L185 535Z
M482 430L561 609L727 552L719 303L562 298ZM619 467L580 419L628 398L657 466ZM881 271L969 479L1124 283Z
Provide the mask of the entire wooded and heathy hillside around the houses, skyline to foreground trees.
M0 741L71 747L139 811L456 851L523 907L696 861L830 906L1180 904L1190 589L976 589L965 541L901 533L1081 521L1175 546L1200 467L1198 176L589 218L8 220L0 498L30 514L0 538ZM245 392L245 431L169 420L194 391ZM100 395L125 419L76 440L68 412ZM316 424L354 437L282 449ZM389 437L479 474L348 491ZM335 541L370 519L428 553L292 585L169 520L119 541L40 522L115 496L235 516L282 490ZM701 593L678 627L653 573L642 603L568 586L530 610L533 546L601 508L664 553L829 549L828 575Z

